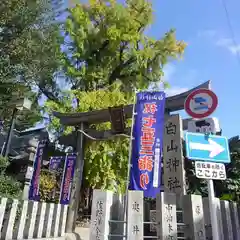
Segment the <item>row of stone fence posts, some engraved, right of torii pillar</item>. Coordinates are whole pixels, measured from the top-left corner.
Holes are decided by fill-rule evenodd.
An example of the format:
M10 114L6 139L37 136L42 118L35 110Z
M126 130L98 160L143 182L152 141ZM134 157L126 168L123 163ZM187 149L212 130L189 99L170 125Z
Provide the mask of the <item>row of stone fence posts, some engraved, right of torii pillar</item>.
M240 240L240 209L234 202L215 199L219 240ZM90 240L210 240L208 198L160 193L156 209L144 207L143 192L128 192L128 216L123 199L110 191L94 190ZM124 227L127 226L126 228ZM126 238L125 238L126 237Z

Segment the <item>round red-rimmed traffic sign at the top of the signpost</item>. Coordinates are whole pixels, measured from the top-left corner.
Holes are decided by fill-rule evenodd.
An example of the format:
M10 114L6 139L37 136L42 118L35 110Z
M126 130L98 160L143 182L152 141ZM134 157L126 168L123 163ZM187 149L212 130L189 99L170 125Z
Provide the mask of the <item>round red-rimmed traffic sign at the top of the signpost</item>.
M211 115L218 105L218 98L209 89L201 88L191 92L185 101L184 109L192 118L201 119Z

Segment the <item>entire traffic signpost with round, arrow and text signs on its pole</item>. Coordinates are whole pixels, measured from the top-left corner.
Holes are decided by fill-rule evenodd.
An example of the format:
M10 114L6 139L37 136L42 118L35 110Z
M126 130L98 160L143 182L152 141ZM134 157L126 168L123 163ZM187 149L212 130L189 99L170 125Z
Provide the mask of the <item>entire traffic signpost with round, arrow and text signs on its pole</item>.
M211 90L198 89L189 94L185 102L186 112L194 119L204 119L211 115L218 105L218 98ZM223 163L230 162L228 140L225 137L209 135L216 133L219 129L218 121L214 119L204 119L204 125L209 123L210 128L204 126L205 134L186 134L186 155L191 160L201 160L206 162L196 162L196 176L208 181L208 199L212 225L213 240L219 240L219 228L217 219L217 203L214 192L213 179L226 179L226 171ZM198 122L200 125L203 122ZM197 124L191 128L197 130ZM201 129L201 126L200 126ZM189 129L190 130L190 129ZM195 130L195 131L196 131ZM202 131L199 131L202 132ZM208 161L208 162L207 162Z

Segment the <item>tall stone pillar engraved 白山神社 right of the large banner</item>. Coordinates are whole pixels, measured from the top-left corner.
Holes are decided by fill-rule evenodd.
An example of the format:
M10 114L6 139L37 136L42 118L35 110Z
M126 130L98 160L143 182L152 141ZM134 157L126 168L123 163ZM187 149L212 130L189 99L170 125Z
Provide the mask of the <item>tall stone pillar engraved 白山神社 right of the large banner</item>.
M179 114L165 121L163 142L164 191L185 194L182 119Z

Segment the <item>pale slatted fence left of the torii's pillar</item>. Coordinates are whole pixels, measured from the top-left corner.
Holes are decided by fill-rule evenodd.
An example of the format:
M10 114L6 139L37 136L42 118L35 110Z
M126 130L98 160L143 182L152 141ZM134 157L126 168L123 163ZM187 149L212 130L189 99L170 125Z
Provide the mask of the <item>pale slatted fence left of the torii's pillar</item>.
M67 205L0 199L0 239L33 239L65 235Z

